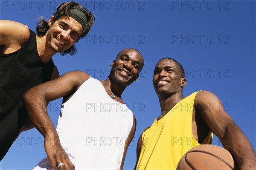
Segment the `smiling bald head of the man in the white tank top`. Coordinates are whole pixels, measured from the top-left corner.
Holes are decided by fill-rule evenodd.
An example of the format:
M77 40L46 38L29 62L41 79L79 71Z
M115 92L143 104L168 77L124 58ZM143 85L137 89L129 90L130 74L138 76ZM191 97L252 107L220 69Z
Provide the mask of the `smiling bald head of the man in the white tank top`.
M144 60L136 49L123 49L111 63L112 69L109 77L119 86L128 86L137 81L139 72L143 68Z

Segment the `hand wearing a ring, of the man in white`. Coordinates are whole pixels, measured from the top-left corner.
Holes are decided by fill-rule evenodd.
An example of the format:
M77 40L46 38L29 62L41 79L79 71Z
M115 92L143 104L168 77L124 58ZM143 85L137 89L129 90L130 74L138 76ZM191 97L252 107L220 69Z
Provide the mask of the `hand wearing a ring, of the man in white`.
M54 136L44 140L44 149L50 161L51 170L55 170L60 163L63 163L63 165L59 166L60 170L75 170L75 166L61 146L58 134Z

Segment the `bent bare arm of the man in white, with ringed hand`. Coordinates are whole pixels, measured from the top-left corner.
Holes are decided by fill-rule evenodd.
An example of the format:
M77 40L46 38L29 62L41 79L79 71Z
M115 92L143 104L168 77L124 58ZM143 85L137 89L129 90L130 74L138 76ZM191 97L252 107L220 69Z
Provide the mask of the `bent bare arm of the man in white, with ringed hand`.
M30 120L44 136L44 147L51 170L55 170L56 164L61 162L67 170L74 170L74 166L61 147L57 131L47 113L47 102L74 92L88 78L84 72L68 72L60 78L29 89L22 97Z

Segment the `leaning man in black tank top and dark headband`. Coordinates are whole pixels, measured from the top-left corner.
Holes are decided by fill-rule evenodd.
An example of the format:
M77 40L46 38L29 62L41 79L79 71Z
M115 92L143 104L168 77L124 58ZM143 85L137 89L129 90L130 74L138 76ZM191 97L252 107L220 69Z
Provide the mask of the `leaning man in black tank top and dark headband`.
M41 17L37 35L26 25L1 20L0 160L19 133L33 127L21 96L28 89L59 77L52 56L57 52L74 55L74 43L87 35L93 22L94 15L72 1L61 3L49 21Z

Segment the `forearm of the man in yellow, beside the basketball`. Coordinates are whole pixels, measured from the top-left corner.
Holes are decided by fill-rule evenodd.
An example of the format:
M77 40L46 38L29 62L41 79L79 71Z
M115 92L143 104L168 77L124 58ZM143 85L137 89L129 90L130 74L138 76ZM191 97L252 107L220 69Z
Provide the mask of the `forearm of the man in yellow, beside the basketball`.
M221 143L236 158L240 170L256 169L256 155L253 147L238 126L235 124L228 126L221 138Z

